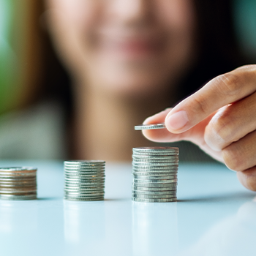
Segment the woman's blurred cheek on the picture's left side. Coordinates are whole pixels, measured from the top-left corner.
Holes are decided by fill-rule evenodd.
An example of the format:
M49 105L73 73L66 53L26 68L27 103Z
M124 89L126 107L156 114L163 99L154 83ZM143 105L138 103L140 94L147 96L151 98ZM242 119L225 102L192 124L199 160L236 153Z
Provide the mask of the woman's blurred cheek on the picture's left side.
M72 75L78 75L89 52L88 38L97 23L99 1L48 0L47 7L56 50Z

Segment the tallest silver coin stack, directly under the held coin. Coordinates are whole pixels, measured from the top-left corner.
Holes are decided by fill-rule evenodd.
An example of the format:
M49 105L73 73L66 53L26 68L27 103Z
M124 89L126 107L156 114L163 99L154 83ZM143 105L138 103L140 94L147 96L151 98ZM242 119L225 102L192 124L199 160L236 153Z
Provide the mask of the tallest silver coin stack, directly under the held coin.
M175 202L177 200L178 148L133 148L132 200Z

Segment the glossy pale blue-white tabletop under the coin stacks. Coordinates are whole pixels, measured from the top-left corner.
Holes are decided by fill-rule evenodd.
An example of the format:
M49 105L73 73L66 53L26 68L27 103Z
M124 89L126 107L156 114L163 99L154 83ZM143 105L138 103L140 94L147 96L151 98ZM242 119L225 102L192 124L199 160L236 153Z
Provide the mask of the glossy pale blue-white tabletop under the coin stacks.
M0 200L0 255L256 255L255 192L223 165L180 164L177 203L131 200L132 166L106 165L105 200L63 200L63 162L38 167L38 200Z

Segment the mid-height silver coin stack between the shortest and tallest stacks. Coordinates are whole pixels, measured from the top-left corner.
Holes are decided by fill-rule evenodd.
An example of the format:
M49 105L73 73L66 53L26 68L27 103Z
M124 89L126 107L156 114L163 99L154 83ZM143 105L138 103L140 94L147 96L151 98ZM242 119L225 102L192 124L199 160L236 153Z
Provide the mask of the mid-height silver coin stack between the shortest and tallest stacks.
M64 174L64 199L75 201L104 200L105 161L65 161Z

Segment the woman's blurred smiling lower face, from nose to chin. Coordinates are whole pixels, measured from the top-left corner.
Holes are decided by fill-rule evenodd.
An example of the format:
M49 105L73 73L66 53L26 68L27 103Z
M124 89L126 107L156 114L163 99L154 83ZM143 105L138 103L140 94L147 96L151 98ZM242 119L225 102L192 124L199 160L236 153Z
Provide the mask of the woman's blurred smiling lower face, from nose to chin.
M193 60L192 0L48 0L50 29L68 69L86 86L154 95Z

